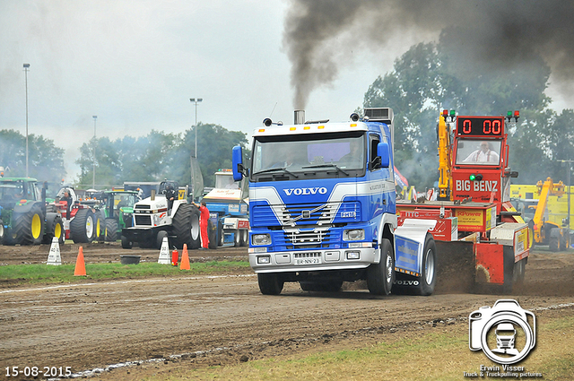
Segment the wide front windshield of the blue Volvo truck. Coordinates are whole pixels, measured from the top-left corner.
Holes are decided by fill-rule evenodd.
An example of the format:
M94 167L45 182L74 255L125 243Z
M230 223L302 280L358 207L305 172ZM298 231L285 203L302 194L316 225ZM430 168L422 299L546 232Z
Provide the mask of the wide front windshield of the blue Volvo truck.
M362 171L366 163L365 138L361 132L258 136L252 162L252 174L265 176L317 171L340 174L340 169L343 173Z

